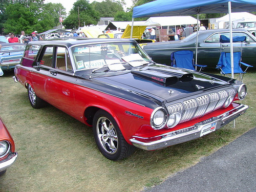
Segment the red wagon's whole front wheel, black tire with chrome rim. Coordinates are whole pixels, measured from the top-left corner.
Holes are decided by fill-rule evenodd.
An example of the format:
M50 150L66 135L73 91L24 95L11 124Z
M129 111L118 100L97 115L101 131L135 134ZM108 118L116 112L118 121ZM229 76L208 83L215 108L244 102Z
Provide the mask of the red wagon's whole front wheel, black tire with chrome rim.
M121 160L130 156L134 146L125 141L115 119L99 110L93 118L93 135L99 151L110 160Z

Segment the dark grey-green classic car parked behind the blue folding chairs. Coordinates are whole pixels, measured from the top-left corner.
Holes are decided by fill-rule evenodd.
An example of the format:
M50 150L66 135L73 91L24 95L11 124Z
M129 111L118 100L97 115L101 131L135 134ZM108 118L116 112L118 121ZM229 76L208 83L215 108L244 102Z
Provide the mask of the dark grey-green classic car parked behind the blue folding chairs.
M220 35L229 37L229 29L214 29L198 31L198 54L197 63L215 68L220 58L220 52L230 52L230 43L220 44ZM234 36L246 36L246 40L241 43L233 43L234 52L242 51L242 61L256 66L256 38L244 29L233 29ZM143 47L146 53L157 63L170 66L170 54L180 50L190 50L194 52L196 58L197 33L193 33L182 40L150 43Z

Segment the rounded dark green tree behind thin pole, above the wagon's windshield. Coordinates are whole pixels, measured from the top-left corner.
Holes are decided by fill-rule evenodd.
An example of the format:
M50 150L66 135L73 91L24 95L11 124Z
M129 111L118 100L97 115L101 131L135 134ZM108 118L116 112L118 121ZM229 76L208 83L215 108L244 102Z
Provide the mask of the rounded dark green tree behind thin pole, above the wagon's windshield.
M69 16L63 20L66 29L78 28L81 25L96 25L99 21L99 13L86 0L78 0L73 4Z

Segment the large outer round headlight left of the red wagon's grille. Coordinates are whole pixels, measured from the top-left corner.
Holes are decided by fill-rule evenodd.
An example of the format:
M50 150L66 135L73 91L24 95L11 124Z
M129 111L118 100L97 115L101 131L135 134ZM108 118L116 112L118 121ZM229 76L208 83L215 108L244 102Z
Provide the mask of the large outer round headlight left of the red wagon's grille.
M151 115L151 126L155 130L162 129L166 123L167 112L164 108L156 108Z

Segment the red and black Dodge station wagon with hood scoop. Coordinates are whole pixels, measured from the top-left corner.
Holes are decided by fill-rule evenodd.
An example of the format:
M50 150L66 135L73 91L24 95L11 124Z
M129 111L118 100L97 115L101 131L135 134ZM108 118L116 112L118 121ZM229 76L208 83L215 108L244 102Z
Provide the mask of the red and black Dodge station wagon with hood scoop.
M48 102L92 126L111 160L202 137L248 108L234 102L247 94L242 82L159 65L127 39L30 42L14 79L33 108Z

